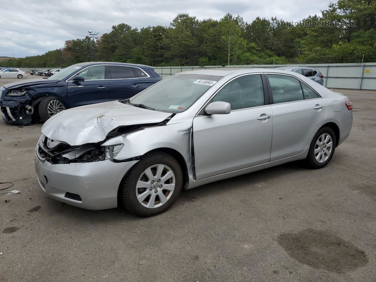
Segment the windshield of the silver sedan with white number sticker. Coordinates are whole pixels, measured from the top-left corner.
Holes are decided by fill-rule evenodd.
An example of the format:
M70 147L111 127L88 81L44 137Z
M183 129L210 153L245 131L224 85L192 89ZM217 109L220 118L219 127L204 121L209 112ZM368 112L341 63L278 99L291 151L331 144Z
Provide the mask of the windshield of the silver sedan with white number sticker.
M129 99L161 112L179 113L188 109L223 76L177 74L167 77Z

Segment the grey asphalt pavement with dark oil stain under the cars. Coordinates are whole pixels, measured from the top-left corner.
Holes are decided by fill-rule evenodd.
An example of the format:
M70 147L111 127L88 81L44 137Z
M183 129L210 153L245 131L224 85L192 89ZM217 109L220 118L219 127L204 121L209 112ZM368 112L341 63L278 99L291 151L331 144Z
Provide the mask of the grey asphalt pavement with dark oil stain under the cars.
M46 197L41 124L0 121L0 281L376 281L376 91L336 91L354 121L325 168L210 183L150 218Z

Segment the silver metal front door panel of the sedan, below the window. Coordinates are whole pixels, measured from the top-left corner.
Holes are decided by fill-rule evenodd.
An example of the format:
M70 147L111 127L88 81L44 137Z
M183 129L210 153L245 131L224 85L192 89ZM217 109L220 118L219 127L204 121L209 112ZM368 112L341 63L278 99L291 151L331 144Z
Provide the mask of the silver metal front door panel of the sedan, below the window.
M270 159L273 118L270 106L204 115L193 120L196 179L226 173Z

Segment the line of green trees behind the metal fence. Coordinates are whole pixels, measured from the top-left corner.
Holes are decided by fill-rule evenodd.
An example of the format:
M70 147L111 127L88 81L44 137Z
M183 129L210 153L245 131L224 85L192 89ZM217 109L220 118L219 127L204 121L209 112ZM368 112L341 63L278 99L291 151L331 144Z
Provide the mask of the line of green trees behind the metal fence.
M67 67L93 61L153 66L347 63L376 61L376 1L338 0L320 16L290 23L226 14L197 20L178 14L170 26L120 23L94 44L89 36L62 49L3 61L6 67ZM320 24L318 24L320 23ZM330 24L329 24L330 23Z

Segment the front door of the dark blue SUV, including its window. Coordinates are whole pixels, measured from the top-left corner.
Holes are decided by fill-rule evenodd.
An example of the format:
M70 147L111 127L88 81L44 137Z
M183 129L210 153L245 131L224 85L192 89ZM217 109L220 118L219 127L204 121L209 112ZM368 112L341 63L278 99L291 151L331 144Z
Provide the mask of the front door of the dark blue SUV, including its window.
M83 76L85 81L73 82L73 77L68 80L67 94L71 108L109 101L105 65L87 67L76 75Z

